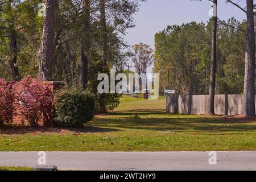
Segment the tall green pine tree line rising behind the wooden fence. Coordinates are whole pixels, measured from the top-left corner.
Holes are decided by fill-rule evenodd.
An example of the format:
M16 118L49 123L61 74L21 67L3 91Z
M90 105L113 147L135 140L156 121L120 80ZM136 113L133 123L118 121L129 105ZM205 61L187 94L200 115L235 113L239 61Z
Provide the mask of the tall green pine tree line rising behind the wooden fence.
M209 93L212 22L168 26L155 35L154 72L160 73L161 91ZM217 94L243 93L246 26L235 18L218 20Z

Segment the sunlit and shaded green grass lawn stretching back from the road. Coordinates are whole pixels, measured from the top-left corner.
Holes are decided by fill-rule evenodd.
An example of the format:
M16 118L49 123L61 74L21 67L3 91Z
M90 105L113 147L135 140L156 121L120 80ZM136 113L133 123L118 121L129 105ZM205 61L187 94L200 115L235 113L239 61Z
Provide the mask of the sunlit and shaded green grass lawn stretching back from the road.
M84 129L5 127L0 151L236 151L256 150L256 121L168 114L164 98L124 97Z

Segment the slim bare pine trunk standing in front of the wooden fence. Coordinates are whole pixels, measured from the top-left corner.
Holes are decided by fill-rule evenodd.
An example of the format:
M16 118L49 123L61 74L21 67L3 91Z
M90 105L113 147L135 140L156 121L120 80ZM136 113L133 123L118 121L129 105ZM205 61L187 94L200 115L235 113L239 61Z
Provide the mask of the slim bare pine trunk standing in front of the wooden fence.
M217 0L213 0L216 4ZM215 97L215 86L216 86L216 65L217 65L217 53L216 53L216 42L217 42L217 15L213 15L212 25L212 65L210 68L210 85L209 85L209 101L208 101L208 114L214 113L214 97Z

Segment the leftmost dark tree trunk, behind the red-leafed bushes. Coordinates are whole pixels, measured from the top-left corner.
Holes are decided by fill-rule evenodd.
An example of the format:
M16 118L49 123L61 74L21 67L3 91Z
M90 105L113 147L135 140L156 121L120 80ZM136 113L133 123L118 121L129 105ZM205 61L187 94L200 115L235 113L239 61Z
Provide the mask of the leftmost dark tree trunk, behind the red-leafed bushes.
M14 81L19 81L19 69L17 64L17 57L18 57L18 51L17 51L17 42L16 42L16 32L14 30L14 24L13 22L10 24L9 27L9 40L10 40L10 52L11 52L11 61L10 61L10 68L11 73Z

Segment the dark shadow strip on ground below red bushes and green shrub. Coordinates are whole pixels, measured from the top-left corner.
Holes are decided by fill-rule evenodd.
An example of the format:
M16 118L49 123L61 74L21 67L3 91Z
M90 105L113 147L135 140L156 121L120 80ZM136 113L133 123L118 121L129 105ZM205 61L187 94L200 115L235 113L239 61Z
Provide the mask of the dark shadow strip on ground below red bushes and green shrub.
M109 133L114 131L121 131L119 129L111 129L105 127L75 127L75 128L64 128L64 127L30 127L30 126L13 126L6 125L0 128L0 134L2 135L23 135L23 134L81 134L81 133Z

